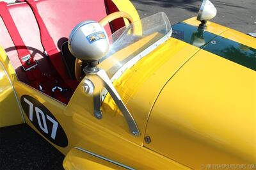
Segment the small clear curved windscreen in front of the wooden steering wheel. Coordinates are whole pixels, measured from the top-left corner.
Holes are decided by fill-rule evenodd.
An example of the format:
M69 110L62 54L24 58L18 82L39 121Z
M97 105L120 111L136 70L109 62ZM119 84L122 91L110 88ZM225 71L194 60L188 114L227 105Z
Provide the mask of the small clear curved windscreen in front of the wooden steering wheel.
M163 12L132 22L109 36L110 50L100 60L99 66L106 70L109 77L113 77L125 63L166 36L171 30L170 21Z

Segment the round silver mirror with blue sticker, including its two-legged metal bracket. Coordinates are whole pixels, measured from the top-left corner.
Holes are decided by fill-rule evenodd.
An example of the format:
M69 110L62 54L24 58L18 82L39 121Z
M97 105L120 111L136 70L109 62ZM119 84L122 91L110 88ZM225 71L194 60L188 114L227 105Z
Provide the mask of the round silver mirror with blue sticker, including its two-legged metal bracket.
M101 94L99 89L94 89L95 84L99 88L106 88L108 90L117 107L122 114L124 114L124 118L127 121L131 134L135 137L140 136L136 121L125 106L107 73L105 70L97 67L99 60L109 52L109 40L104 27L93 20L77 24L70 33L68 49L76 58L88 63L83 69L86 78L82 83L84 92L93 96L94 116L99 120L102 118L102 112L100 111L100 106L102 104Z

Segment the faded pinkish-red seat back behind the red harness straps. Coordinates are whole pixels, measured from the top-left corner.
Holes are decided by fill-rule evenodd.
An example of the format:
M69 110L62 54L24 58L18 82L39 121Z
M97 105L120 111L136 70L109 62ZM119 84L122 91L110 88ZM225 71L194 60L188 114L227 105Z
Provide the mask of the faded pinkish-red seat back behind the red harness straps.
M67 40L76 24L84 20L99 21L107 15L104 0L40 0L36 1L36 6L56 47L59 47L58 50L60 50L63 41ZM25 45L31 50L32 56L36 52L35 59L39 63L40 70L44 73L51 73L51 66L42 54L43 47L40 42L40 33L31 8L26 3L16 3L10 4L9 10ZM111 34L109 26L105 29L108 34ZM20 68L21 64L17 58L17 51L2 19L0 19L0 43L6 49L20 81L27 82L26 73Z

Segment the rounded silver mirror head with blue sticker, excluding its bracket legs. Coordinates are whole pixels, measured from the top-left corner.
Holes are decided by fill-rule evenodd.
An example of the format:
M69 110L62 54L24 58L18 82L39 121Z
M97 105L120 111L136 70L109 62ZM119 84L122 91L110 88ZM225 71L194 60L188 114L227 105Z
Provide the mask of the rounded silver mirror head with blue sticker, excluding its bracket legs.
M68 49L77 59L96 67L99 60L109 52L109 40L104 27L88 20L77 24L68 38Z

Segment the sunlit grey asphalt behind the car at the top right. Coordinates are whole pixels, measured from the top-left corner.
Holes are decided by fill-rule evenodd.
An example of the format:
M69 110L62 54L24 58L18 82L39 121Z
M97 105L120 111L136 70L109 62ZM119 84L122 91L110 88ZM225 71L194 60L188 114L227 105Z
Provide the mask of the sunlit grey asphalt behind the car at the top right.
M197 15L200 0L131 0L140 17L164 12L171 24ZM256 33L256 0L211 0L217 9L212 22L243 33Z

